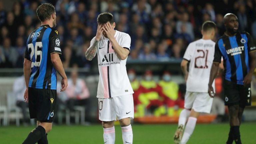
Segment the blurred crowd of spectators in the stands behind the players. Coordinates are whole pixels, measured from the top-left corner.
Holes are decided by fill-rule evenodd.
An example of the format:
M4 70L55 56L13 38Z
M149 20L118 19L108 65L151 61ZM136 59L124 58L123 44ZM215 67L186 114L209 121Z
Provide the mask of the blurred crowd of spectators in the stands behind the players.
M228 12L238 16L240 30L256 38L254 0L21 0L11 11L0 1L0 68L23 67L27 37L41 25L36 8L45 2L56 8L65 68L91 67L85 52L96 34L98 14L106 11L114 15L116 30L131 36L128 61L182 58L187 45L201 38L204 21L217 24L216 39L223 35Z

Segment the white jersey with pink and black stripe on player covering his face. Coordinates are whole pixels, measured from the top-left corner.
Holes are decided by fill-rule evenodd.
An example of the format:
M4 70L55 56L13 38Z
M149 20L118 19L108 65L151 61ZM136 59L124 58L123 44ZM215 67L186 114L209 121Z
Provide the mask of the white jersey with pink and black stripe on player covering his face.
M130 51L131 37L116 30L114 35L117 43ZM93 45L95 37L91 40ZM99 41L98 49L99 83L98 98L117 97L134 93L126 72L126 60L121 60L114 52L112 44L103 35Z

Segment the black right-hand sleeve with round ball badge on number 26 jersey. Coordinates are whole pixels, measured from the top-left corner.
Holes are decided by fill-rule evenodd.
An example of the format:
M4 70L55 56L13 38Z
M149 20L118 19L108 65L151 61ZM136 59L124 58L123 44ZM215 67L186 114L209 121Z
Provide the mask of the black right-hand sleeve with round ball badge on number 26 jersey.
M50 54L56 53L61 55L60 49L60 37L57 30L52 30L49 36L49 48Z

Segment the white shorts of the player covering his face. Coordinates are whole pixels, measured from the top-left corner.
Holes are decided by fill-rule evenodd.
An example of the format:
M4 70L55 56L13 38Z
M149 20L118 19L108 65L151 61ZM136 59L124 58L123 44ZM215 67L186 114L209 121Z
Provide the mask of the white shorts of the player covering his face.
M130 117L134 118L134 106L132 94L111 98L98 98L99 120L113 121Z

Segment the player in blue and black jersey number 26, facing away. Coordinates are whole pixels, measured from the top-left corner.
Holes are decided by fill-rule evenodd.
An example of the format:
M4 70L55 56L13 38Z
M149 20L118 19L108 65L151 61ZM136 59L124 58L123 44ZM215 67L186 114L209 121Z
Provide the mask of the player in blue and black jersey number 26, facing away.
M28 37L24 59L24 76L27 89L24 99L29 104L30 118L37 119L23 144L48 144L47 133L52 129L56 115L57 78L62 77L61 91L66 90L67 76L60 60L60 38L56 26L55 8L50 3L40 5L36 10L42 25Z

